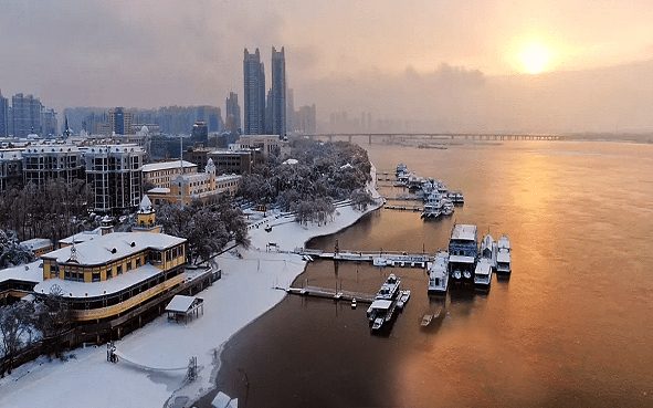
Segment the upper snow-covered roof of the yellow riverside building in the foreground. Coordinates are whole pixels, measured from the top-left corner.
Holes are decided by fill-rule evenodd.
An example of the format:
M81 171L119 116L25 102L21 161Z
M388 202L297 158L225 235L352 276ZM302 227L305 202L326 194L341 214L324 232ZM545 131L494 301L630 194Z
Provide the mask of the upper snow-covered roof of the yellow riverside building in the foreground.
M165 233L113 232L75 245L76 259L82 265L96 265L116 261L147 248L165 250L183 242L186 242L183 238ZM63 263L71 259L71 248L62 248L41 258L55 259Z

